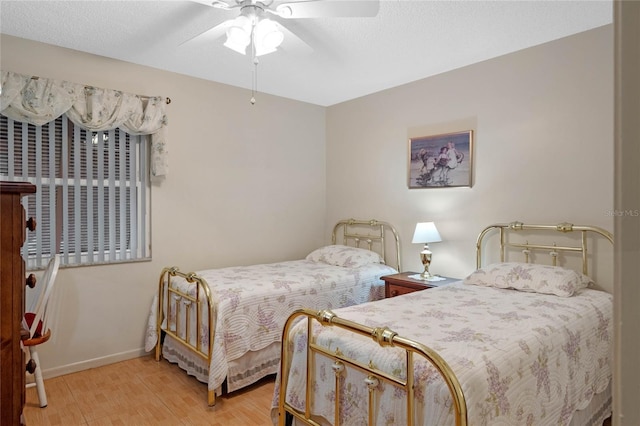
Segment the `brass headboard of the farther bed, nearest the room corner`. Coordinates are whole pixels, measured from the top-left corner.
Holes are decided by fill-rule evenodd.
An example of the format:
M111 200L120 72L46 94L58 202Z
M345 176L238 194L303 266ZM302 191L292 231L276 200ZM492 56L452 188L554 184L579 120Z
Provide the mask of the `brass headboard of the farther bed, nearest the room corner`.
M385 264L401 272L400 237L393 225L387 222L376 219L341 220L333 227L331 243L375 251Z

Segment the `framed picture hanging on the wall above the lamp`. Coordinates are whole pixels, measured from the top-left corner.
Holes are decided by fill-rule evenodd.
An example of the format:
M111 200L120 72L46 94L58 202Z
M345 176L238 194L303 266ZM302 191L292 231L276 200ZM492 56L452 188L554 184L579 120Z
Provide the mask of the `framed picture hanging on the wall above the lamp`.
M473 130L409 139L409 189L471 186Z

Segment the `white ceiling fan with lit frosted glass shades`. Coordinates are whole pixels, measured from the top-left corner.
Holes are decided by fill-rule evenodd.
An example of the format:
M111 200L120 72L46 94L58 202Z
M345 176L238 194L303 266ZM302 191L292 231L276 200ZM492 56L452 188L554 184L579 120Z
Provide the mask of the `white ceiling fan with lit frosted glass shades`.
M299 50L311 48L284 25L285 20L333 17L373 17L378 14L379 0L192 0L217 9L239 9L240 14L193 37L204 34L217 38L226 34L224 45L252 56L275 52L285 37ZM282 22L281 22L282 21ZM193 40L192 39L192 40Z

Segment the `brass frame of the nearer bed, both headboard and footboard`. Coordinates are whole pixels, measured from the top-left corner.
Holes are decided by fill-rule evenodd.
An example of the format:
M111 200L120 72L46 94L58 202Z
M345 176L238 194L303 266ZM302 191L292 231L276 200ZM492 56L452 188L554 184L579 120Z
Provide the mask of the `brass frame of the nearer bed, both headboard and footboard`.
M613 235L599 227L595 226L576 226L570 223L560 223L557 225L525 225L522 222L511 222L511 223L502 223L490 225L484 228L480 234L478 235L476 241L476 267L480 268L482 266L483 260L483 250L485 248L485 237L491 235L497 231L499 235L499 254L500 261L504 262L507 258L507 253L512 250L519 250L524 255L524 261L529 263L534 256L534 252L543 251L547 252L547 254L551 257L551 263L555 266L558 264L558 259L565 253L577 253L581 256L582 259L582 273L588 275L588 263L589 263L589 250L588 250L588 237L593 238L604 238L613 244ZM551 232L553 235L557 235L555 232L560 232L563 234L569 234L572 232L578 232L580 234L580 243L579 244L563 244L557 245L555 242L552 244L539 244L539 243L529 243L525 242L515 242L510 240L510 236L514 233L522 233L525 232L527 235L531 233L531 235L537 236L541 232L542 235L547 235ZM546 232L547 234L544 234ZM305 401L305 410L304 412L300 412L293 408L286 401L286 389L289 379L289 354L285 350L287 345L289 344L289 331L293 324L295 324L297 319L301 317L307 318L307 379L306 379L306 401ZM340 352L339 348L335 351L329 351L328 349L318 345L310 336L312 336L312 325L313 323L319 323L322 326L333 326L341 329L345 329L349 332L359 334L365 337L370 337L374 342L377 342L381 347L396 347L405 351L405 362L406 362L406 379L400 379L399 377L392 376L384 371L381 371L375 368L371 362L369 364L363 364L354 359L350 359L344 356L343 353ZM358 324L346 319L339 318L335 313L330 310L322 310L322 311L314 311L310 309L299 309L296 310L285 323L285 327L283 330L282 337L282 356L281 356L281 365L280 365L280 393L279 393L279 401L278 401L278 425L284 426L288 422L288 418L297 419L304 424L320 426L324 425L323 423L319 423L321 419L314 419L311 414L311 400L312 400L312 388L313 383L312 378L315 375L314 365L313 365L313 353L319 353L323 356L329 358L333 362L333 370L335 373L335 419L333 420L333 424L338 426L340 424L340 387L339 380L340 375L344 371L345 368L353 368L359 370L367 375L365 380L367 387L369 389L369 405L368 405L368 416L369 416L369 425L374 424L374 399L375 399L375 389L380 381L384 381L393 386L397 386L401 389L404 389L407 395L406 400L406 408L407 408L407 424L408 426L412 426L414 424L413 418L413 371L414 371L414 360L416 357L423 357L426 359L431 365L433 365L436 370L442 376L444 382L447 384L449 388L449 392L452 398L453 412L455 418L455 424L457 426L466 426L468 424L467 418L467 406L465 401L465 396L462 391L462 387L457 377L451 370L451 367L447 364L447 362L436 353L433 349L416 342L411 339L407 339L399 336L396 332L390 330L387 327L378 327L371 328L362 324ZM323 421L330 421L328 419L322 419Z

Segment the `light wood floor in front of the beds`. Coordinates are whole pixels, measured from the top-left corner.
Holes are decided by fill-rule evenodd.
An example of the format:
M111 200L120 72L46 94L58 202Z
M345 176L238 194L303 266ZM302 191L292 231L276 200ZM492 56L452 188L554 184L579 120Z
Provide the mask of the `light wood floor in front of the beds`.
M207 385L165 360L136 358L45 380L48 406L27 389L27 426L38 425L271 425L275 378L218 397L207 406Z

